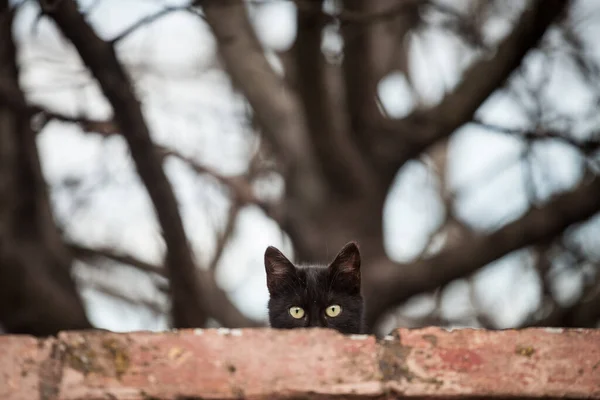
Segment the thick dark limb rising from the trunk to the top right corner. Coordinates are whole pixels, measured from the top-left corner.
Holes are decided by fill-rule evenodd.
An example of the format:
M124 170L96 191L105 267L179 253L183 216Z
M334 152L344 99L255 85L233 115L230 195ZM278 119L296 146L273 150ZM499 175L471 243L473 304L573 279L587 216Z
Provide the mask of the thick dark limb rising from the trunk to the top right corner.
M407 160L472 120L479 106L495 92L544 36L570 4L569 0L535 0L523 12L512 32L491 58L484 58L464 74L462 81L437 106L401 120L381 122L384 139L377 154L389 160L389 179Z

